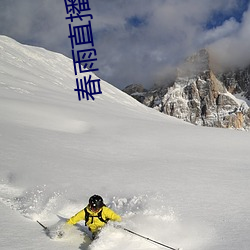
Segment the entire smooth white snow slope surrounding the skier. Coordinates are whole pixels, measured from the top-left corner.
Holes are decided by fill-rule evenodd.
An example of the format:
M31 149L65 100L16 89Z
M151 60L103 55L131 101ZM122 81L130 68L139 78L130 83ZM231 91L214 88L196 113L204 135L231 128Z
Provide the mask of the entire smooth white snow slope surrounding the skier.
M53 228L95 193L171 247L250 249L248 132L181 122L105 81L95 101L74 88L70 59L0 36L1 249L162 249L112 225L90 244L83 223L63 239L36 223Z

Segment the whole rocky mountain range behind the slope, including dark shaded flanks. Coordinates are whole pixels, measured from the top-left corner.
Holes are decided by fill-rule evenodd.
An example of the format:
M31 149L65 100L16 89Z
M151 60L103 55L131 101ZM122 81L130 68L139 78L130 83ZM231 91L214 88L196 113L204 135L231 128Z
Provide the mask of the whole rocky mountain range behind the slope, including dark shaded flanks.
M141 103L187 122L222 128L250 128L250 67L215 72L205 49L187 58L169 86L130 85L124 92Z

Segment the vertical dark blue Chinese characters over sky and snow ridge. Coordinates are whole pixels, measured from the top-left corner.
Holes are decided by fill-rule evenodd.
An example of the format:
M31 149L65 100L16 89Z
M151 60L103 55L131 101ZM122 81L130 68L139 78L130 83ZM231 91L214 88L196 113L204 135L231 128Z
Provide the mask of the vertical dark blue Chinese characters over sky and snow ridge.
M102 94L100 79L91 79L91 75L80 77L81 73L87 73L99 70L94 66L97 61L97 53L94 49L94 40L92 33L91 20L93 16L86 14L90 11L89 0L64 0L67 16L69 20L69 38L71 41L73 67L76 78L76 91L78 100L94 100L94 95ZM74 20L78 19L82 22L81 25L75 25ZM90 46L91 48L77 49L81 45ZM78 78L79 77L79 78Z

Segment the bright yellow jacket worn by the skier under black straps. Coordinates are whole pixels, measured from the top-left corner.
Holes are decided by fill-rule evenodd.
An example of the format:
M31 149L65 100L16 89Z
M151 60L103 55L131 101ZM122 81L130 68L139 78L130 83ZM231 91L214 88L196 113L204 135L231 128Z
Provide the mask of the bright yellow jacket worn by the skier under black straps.
M100 213L100 211L102 211L101 215L102 215L102 219L104 221L107 221L107 220L121 221L122 220L118 214L116 214L113 210L111 210L110 208L108 208L106 206L103 206L97 212L91 211L88 207L86 209L87 209L87 212L89 213L89 219L88 219L88 221L86 221L86 225L88 226L88 228L90 229L90 231L92 233L97 232L98 229L102 228L106 224L105 222L101 221L98 218L98 214ZM94 217L92 217L92 216L94 216ZM78 212L76 215L72 216L67 221L67 224L74 225L77 222L79 222L80 220L85 220L84 209L81 210L80 212Z

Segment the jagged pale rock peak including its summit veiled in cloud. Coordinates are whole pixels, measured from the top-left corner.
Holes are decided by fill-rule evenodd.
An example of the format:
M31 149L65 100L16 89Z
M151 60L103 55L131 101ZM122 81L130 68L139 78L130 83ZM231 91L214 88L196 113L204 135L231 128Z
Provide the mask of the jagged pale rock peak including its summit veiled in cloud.
M183 69L184 67L184 69ZM164 113L197 125L248 128L249 107L237 100L209 66L206 50L187 59L162 99Z

